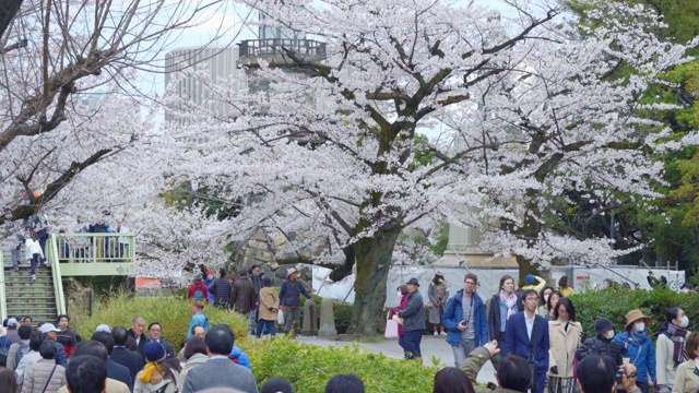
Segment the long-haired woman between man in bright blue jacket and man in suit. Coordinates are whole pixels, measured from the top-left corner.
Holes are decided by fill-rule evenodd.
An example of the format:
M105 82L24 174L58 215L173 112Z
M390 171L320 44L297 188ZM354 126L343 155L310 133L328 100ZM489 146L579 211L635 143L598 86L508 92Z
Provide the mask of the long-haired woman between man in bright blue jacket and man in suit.
M488 336L490 340L498 342L501 356L507 356L505 353L505 327L507 326L507 320L520 311L520 309L521 306L514 293L514 278L506 274L500 277L498 293L490 298L490 311L488 312Z

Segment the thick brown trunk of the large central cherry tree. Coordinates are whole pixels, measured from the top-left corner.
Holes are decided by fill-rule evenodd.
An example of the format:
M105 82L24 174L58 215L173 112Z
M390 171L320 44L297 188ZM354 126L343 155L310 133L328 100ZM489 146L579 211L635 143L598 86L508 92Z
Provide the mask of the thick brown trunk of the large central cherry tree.
M354 245L357 278L350 333L374 336L382 333L386 314L386 282L400 229L378 233Z

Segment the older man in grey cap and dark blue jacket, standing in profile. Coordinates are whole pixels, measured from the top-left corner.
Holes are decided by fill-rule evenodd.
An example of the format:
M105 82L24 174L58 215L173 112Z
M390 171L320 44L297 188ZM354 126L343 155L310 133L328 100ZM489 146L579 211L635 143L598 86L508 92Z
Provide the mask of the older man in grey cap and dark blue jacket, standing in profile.
M425 303L423 295L417 290L419 288L417 278L411 278L405 285L408 291L407 305L398 312L398 315L403 319L403 331L405 332L403 349L405 349L407 360L419 360L423 356L419 344L423 342L423 332L425 331Z

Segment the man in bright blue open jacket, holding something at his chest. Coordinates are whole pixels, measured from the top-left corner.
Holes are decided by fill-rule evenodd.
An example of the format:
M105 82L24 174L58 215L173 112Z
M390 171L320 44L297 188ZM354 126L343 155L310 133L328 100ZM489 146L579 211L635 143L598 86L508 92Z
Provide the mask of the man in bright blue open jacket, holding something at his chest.
M447 331L447 343L454 353L454 364L461 366L469 354L488 342L488 322L485 305L476 294L478 277L469 273L463 279L463 289L449 302L441 318Z

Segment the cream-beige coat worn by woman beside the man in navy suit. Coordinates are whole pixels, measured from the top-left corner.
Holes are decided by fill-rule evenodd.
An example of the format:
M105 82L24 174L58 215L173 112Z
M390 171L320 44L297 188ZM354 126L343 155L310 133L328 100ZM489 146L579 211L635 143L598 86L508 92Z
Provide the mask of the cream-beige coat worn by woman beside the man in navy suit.
M548 322L548 337L550 349L548 350L548 368L546 372L549 377L572 378L572 361L576 349L580 346L580 333L582 325L580 322L569 322L568 331L565 323L560 321ZM550 368L556 366L558 373L550 373Z

